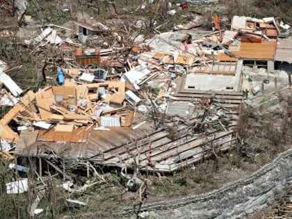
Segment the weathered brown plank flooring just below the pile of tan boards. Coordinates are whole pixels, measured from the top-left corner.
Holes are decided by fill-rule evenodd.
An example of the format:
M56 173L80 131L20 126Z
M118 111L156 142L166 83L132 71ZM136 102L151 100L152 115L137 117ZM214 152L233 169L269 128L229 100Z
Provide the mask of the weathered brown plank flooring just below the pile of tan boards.
M88 133L88 140L84 142L65 142L60 138L60 141L54 141L53 136L39 136L38 140L29 141L28 144L24 144L26 141L26 136L31 136L31 133L26 133L20 135L20 140L16 149L15 155L17 156L47 156L51 151L58 154L59 152L70 148L70 152L79 158L89 158L90 156L95 156L100 152L105 152L108 149L113 149L124 145L145 135L144 129L130 129L128 127L111 127L110 131L94 131L93 129ZM41 133L44 131L40 131ZM42 134L43 135L43 134ZM76 136L78 139L78 136ZM48 141L49 140L49 141Z

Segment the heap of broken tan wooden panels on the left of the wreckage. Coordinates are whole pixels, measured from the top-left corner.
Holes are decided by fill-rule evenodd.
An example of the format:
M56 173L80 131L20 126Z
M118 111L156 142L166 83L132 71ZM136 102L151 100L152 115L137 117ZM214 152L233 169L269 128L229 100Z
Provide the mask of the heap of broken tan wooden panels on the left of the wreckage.
M38 92L29 90L18 97L18 103L13 102L13 108L0 120L0 137L6 149L17 144L17 132L24 130L37 132L37 140L44 142L86 143L92 129L131 125L133 111L127 108L126 83L89 83L83 74L90 73L80 76L79 70L63 71L71 79L65 79L62 86L47 86ZM6 90L3 92L10 97ZM11 125L12 121L17 127Z

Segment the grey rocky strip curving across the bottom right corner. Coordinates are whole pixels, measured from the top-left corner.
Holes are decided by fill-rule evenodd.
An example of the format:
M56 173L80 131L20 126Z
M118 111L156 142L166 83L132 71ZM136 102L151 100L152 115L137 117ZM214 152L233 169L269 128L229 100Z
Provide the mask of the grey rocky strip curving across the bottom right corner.
M272 204L292 185L292 149L280 154L250 177L240 179L205 195L145 204L124 209L122 215L136 218L247 218Z

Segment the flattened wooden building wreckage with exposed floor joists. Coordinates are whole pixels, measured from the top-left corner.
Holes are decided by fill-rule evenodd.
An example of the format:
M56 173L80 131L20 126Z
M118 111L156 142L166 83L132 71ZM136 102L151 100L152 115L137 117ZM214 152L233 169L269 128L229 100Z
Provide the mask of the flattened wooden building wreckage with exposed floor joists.
M111 33L100 23L76 25L86 37ZM274 72L275 61L291 63L290 41L277 40L273 17L235 16L230 30L217 26L178 45L163 40L160 51L152 41L161 38L142 42L126 59L124 47L83 49L63 40L54 30L62 26L24 40L70 48L74 67L58 68L58 86L24 92L1 62L1 103L13 106L0 120L1 153L55 169L52 157L67 152L97 165L173 172L234 147L243 66Z

